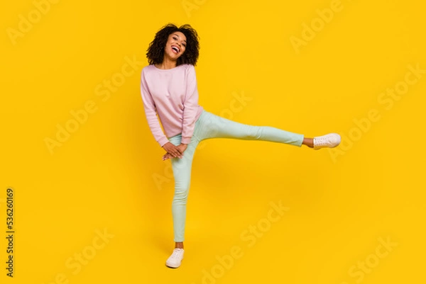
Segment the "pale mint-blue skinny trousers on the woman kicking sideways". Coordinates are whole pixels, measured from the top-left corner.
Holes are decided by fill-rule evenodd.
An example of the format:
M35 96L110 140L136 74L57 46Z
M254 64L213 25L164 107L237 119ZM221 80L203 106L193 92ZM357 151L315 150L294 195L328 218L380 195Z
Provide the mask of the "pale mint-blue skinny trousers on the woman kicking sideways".
M221 118L206 110L195 122L194 133L190 144L183 153L182 159L173 158L172 168L175 178L175 197L172 203L173 230L175 242L183 242L185 234L186 204L190 191L191 167L195 149L202 140L210 138L233 138L240 140L262 140L302 146L303 135L280 130L269 126L253 126L236 123ZM178 146L182 135L169 138L169 141Z

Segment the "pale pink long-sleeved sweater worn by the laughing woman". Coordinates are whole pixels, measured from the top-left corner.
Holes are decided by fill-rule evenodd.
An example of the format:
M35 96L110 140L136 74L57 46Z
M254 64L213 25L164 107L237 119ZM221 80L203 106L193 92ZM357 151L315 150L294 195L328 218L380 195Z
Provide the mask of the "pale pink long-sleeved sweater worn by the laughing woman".
M192 64L158 69L153 64L142 69L141 95L146 120L161 147L168 137L182 134L182 143L191 142L195 121L203 108L198 105L197 78ZM161 130L163 125L163 130Z

